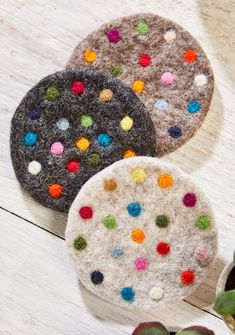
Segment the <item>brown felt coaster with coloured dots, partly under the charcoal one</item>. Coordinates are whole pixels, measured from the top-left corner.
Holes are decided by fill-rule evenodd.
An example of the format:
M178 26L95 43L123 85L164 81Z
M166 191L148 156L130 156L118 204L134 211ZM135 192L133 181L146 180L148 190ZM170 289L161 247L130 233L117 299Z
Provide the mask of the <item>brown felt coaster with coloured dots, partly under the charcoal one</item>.
M90 66L122 79L145 103L157 136L157 156L185 143L201 126L213 93L213 73L198 42L154 14L104 24L75 48L67 68Z

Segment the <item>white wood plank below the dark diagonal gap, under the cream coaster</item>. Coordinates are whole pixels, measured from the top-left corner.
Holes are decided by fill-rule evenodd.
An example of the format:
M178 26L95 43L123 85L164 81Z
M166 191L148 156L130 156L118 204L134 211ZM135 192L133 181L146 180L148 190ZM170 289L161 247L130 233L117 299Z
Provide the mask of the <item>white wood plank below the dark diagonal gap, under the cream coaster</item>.
M223 321L186 302L128 312L78 285L65 242L0 210L0 334L124 335L141 321L201 324L228 335Z

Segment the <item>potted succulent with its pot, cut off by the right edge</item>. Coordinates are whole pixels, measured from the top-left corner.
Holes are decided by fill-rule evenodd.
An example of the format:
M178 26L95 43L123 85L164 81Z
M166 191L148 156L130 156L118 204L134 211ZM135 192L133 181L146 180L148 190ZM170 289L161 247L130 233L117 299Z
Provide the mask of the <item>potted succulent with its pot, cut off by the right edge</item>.
M216 293L213 308L235 333L235 251L233 262L224 268L219 277Z

